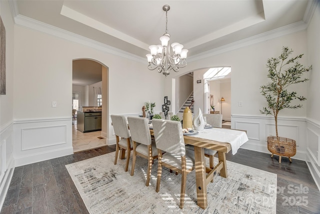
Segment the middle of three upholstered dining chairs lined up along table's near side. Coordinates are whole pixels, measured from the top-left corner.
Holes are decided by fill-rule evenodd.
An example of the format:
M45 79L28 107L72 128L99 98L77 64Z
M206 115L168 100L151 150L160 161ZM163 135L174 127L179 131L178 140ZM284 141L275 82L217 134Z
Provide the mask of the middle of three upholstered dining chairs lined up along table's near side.
M145 185L148 186L153 160L158 157L155 142L151 140L148 119L143 117L127 117L127 120L129 124L131 140L133 142L131 176L134 173L136 155L147 159L148 169L146 173ZM137 143L139 144L137 145Z

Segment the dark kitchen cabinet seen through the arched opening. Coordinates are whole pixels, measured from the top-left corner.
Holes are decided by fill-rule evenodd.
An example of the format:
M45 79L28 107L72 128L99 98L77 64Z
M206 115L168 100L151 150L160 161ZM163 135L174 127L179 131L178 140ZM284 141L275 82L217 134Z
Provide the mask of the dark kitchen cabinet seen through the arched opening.
M77 130L81 132L101 130L101 112L77 112Z

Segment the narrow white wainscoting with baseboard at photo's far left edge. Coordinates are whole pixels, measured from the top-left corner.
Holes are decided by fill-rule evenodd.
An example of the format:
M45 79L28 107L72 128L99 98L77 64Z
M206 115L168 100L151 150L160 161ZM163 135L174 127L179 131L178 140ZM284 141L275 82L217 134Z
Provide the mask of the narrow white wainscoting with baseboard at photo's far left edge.
M13 122L0 127L0 207L14 170L12 124Z

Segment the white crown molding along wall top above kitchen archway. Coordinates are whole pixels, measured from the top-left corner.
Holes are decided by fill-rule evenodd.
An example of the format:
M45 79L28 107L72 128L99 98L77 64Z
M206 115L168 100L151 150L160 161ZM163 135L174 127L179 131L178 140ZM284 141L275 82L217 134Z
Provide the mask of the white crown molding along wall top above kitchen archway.
M55 36L65 40L69 40L71 42L79 43L81 45L85 45L85 46L97 49L99 51L103 51L108 54L127 58L129 60L133 60L139 63L145 63L145 59L137 55L122 51L120 49L113 48L103 43L88 39L83 36L79 36L77 34L65 31L63 29L39 22L37 20L22 16L22 15L15 16L14 22L16 25L24 28L36 30L51 36Z

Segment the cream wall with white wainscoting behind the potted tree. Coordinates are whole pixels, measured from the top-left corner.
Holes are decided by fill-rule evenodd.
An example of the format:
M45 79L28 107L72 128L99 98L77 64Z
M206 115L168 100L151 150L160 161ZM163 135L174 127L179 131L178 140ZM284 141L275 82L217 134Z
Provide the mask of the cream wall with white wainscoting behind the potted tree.
M268 82L266 77L266 61L270 57L277 57L281 53L282 46L288 46L294 52L293 55L304 54L300 59L302 65L307 65L306 31L300 31L282 37L276 37L263 42L247 45L221 54L212 54L210 57L202 57L188 63L181 71L188 73L194 70L201 70L208 67L230 66L231 67L231 128L247 130L249 141L242 148L270 153L267 150L266 137L274 135L273 117L260 114L266 102L260 94L260 86ZM317 56L319 57L319 56ZM182 73L182 74L183 74ZM203 111L204 87L203 84L196 84L196 80L203 79L203 72L194 72L194 99L195 109ZM174 78L175 74L170 74ZM181 74L179 74L181 75ZM165 82L165 91L171 90L169 77ZM198 86L197 86L198 85ZM294 90L308 98L307 84L302 83L294 87ZM171 92L165 92L171 94ZM224 96L221 94L221 96ZM226 99L226 97L224 97ZM238 106L242 101L242 107ZM305 160L306 154L306 109L307 102L303 102L299 109L283 109L279 113L278 129L280 136L296 140L297 152L292 158ZM224 108L225 107L225 108ZM223 111L227 109L223 103Z

